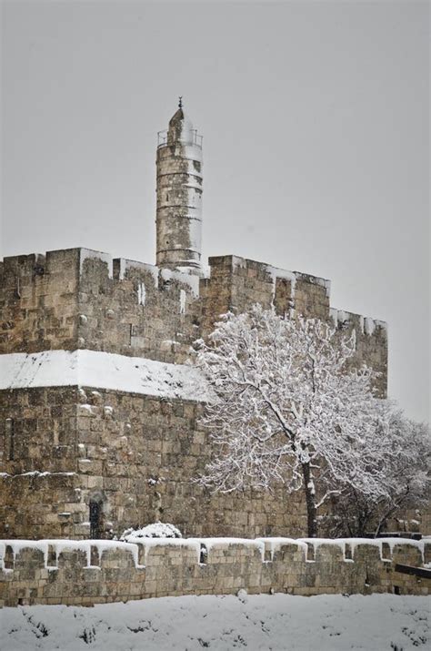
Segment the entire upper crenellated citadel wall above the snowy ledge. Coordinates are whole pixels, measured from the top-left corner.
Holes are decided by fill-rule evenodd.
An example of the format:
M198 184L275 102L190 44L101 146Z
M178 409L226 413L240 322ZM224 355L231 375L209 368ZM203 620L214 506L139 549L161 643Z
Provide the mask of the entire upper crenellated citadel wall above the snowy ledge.
M287 316L333 320L356 330L356 363L381 373L386 393L386 324L330 310L328 280L262 262L209 259L209 278L112 259L89 249L5 258L0 264L0 354L76 350L183 363L220 314L259 302Z

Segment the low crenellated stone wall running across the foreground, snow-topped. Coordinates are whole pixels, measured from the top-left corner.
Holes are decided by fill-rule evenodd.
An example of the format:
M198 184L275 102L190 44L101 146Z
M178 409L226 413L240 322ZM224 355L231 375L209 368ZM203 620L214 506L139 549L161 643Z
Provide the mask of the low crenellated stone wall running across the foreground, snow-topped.
M431 561L430 541L261 538L0 543L0 605L94 605L167 595L427 595L396 564Z

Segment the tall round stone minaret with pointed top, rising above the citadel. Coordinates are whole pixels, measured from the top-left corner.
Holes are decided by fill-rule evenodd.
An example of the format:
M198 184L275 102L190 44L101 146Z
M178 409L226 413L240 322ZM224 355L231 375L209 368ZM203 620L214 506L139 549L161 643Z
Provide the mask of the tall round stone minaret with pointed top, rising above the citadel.
M202 136L182 98L157 146L156 265L201 275Z

